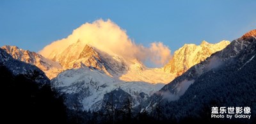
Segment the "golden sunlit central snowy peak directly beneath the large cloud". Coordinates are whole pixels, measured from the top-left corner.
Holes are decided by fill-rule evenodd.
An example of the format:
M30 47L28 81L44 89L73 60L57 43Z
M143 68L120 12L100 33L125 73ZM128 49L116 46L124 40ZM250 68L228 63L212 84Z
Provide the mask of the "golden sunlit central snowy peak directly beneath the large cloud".
M170 82L175 77L170 72L164 72L163 68L147 68L138 59L124 59L122 56L103 52L81 40L70 44L63 51L53 51L48 59L59 62L63 70L87 66L122 81L156 84Z

